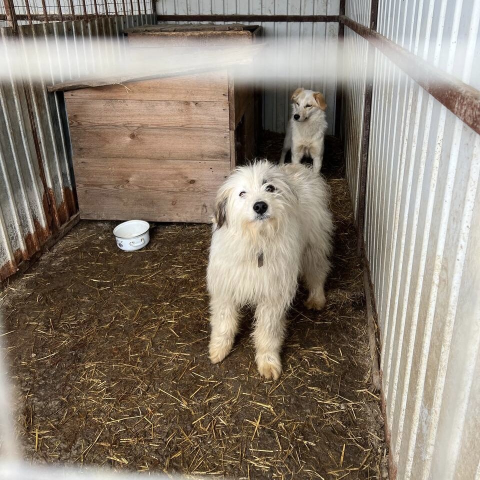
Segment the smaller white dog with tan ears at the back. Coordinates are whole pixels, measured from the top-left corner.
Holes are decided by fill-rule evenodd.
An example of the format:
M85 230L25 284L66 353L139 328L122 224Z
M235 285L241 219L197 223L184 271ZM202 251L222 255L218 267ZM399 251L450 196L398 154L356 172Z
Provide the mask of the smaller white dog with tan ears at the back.
M324 138L327 128L326 103L318 91L297 88L291 95L292 113L288 121L280 164L291 150L291 162L300 163L303 155L313 160L313 171L318 173L323 160Z

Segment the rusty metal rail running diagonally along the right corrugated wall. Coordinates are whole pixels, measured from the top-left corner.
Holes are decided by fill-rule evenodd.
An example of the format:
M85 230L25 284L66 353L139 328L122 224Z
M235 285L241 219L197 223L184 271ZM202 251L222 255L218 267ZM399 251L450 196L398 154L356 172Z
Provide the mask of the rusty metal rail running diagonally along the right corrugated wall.
M368 40L425 91L480 134L480 91L432 66L380 33L340 15L340 22Z

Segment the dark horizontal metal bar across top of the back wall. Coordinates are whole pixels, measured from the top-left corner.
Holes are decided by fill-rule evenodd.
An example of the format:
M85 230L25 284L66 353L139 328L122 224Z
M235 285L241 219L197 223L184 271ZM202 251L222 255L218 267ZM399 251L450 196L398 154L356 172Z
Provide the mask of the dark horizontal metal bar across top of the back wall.
M286 21L337 22L338 15L156 15L157 21Z

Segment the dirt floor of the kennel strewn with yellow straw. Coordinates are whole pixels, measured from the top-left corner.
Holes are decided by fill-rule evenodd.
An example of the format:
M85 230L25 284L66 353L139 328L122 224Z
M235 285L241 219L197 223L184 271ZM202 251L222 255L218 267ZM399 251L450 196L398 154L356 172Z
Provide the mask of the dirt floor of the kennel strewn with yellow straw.
M264 155L279 156L267 135ZM33 461L233 478L385 478L372 393L362 270L341 151L325 173L336 235L322 312L300 289L288 313L283 374L264 381L249 341L207 357L209 225L156 224L122 252L113 222L81 221L2 292L18 422Z

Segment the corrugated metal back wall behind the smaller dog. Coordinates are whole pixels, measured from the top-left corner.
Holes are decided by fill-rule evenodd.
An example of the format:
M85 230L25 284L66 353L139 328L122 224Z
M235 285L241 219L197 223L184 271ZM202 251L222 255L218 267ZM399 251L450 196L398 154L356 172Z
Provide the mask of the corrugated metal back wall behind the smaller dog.
M337 15L339 0L158 0L158 14L262 14L262 15ZM258 22L251 22L258 23ZM299 41L311 55L315 64L325 62L326 58L336 58L338 24L311 22L261 22L262 35L266 41L286 38ZM287 43L287 48L292 43ZM295 45L296 46L296 45ZM291 48L291 54L296 52ZM328 105L328 133L333 132L335 122L336 85L334 81L313 76L308 67L305 71L295 72L288 82L279 81L275 85L263 88L262 123L263 128L283 133L288 122L290 94L298 86L323 92Z

